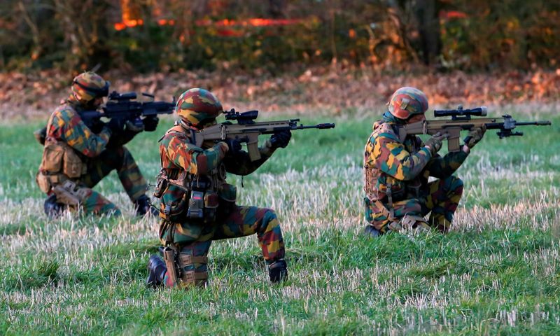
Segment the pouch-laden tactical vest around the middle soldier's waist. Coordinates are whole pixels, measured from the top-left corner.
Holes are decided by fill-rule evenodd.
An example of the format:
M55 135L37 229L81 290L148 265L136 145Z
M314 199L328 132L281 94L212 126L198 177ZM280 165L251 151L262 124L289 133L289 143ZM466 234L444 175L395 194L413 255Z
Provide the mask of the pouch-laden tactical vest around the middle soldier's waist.
M173 132L184 134L194 144L191 130L179 124L166 135ZM237 188L226 183L225 178L223 162L206 175L162 167L154 191L154 197L160 198L160 217L169 223L215 221L218 205L225 212L235 206Z

